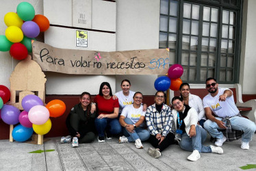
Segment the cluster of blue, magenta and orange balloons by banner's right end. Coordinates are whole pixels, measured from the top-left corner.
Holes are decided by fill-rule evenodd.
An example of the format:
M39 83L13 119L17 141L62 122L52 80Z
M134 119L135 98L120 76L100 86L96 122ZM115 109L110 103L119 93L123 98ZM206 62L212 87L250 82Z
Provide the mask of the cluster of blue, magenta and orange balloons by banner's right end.
M183 67L179 64L173 64L168 69L168 77L161 76L155 80L154 86L157 91L166 91L168 88L173 91L179 90L181 86L181 75L183 75Z

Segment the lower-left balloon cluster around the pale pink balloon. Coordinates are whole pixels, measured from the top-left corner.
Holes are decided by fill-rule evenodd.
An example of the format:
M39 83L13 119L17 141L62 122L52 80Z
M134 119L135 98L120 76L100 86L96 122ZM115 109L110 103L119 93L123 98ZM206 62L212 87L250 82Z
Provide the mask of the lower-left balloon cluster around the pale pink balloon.
M17 142L25 142L34 131L39 135L48 133L51 130L49 117L62 116L66 111L63 101L55 99L44 107L42 100L34 94L25 96L21 101L24 111L5 104L9 99L10 90L0 85L0 118L7 124L20 123L12 131L12 137Z

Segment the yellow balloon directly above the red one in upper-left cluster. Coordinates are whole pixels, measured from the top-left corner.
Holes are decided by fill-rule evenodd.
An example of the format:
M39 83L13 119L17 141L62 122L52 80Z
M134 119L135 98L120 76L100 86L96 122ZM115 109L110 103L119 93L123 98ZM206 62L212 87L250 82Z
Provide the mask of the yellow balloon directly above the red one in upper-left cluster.
M5 36L10 42L21 42L23 31L17 26L10 26L5 29Z

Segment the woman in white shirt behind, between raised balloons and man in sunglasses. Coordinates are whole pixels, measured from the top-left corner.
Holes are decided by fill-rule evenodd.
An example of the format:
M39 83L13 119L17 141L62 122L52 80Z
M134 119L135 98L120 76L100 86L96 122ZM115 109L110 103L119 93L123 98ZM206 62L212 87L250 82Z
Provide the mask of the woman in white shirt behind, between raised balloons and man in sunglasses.
M181 83L179 87L179 92L181 92L181 97L185 105L189 105L196 109L198 116L199 124L203 127L205 122L205 109L203 108L203 101L199 96L190 94L190 85L188 83Z

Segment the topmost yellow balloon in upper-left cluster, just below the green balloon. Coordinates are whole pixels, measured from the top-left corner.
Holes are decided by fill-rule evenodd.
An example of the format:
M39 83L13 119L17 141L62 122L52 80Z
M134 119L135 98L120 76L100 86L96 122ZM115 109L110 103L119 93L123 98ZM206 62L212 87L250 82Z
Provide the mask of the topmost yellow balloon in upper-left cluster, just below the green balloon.
M13 25L21 28L23 25L23 20L15 12L8 12L4 16L4 23L8 27Z

